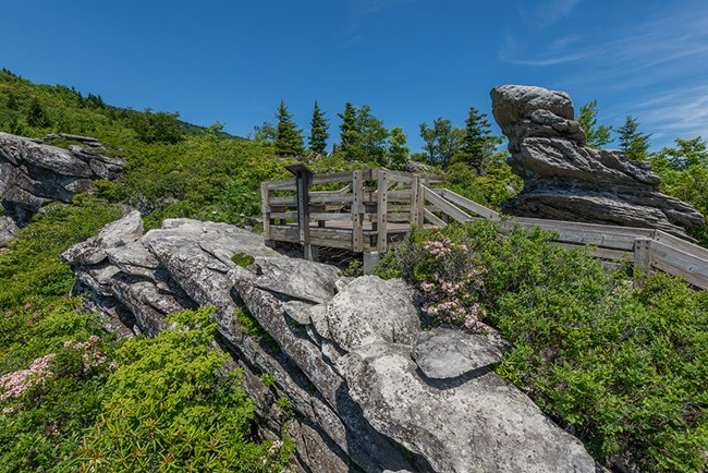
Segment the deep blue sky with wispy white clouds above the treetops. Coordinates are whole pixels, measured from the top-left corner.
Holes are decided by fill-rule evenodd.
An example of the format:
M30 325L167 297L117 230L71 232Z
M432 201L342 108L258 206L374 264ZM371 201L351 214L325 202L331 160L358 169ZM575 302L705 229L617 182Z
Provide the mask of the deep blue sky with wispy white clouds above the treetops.
M352 101L417 150L420 122L528 84L637 117L654 149L708 137L706 0L3 0L2 38L0 66L34 82L242 136L282 98L305 134L319 100L337 137Z

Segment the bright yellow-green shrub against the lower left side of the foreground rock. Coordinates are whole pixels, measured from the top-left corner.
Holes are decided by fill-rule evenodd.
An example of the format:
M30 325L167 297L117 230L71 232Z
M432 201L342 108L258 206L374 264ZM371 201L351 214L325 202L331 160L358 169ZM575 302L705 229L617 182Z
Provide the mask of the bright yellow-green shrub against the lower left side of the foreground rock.
M169 316L176 324L115 352L103 415L85 437L78 471L280 472L290 440L251 438L255 404L240 373L223 373L228 355L210 345L212 311Z

